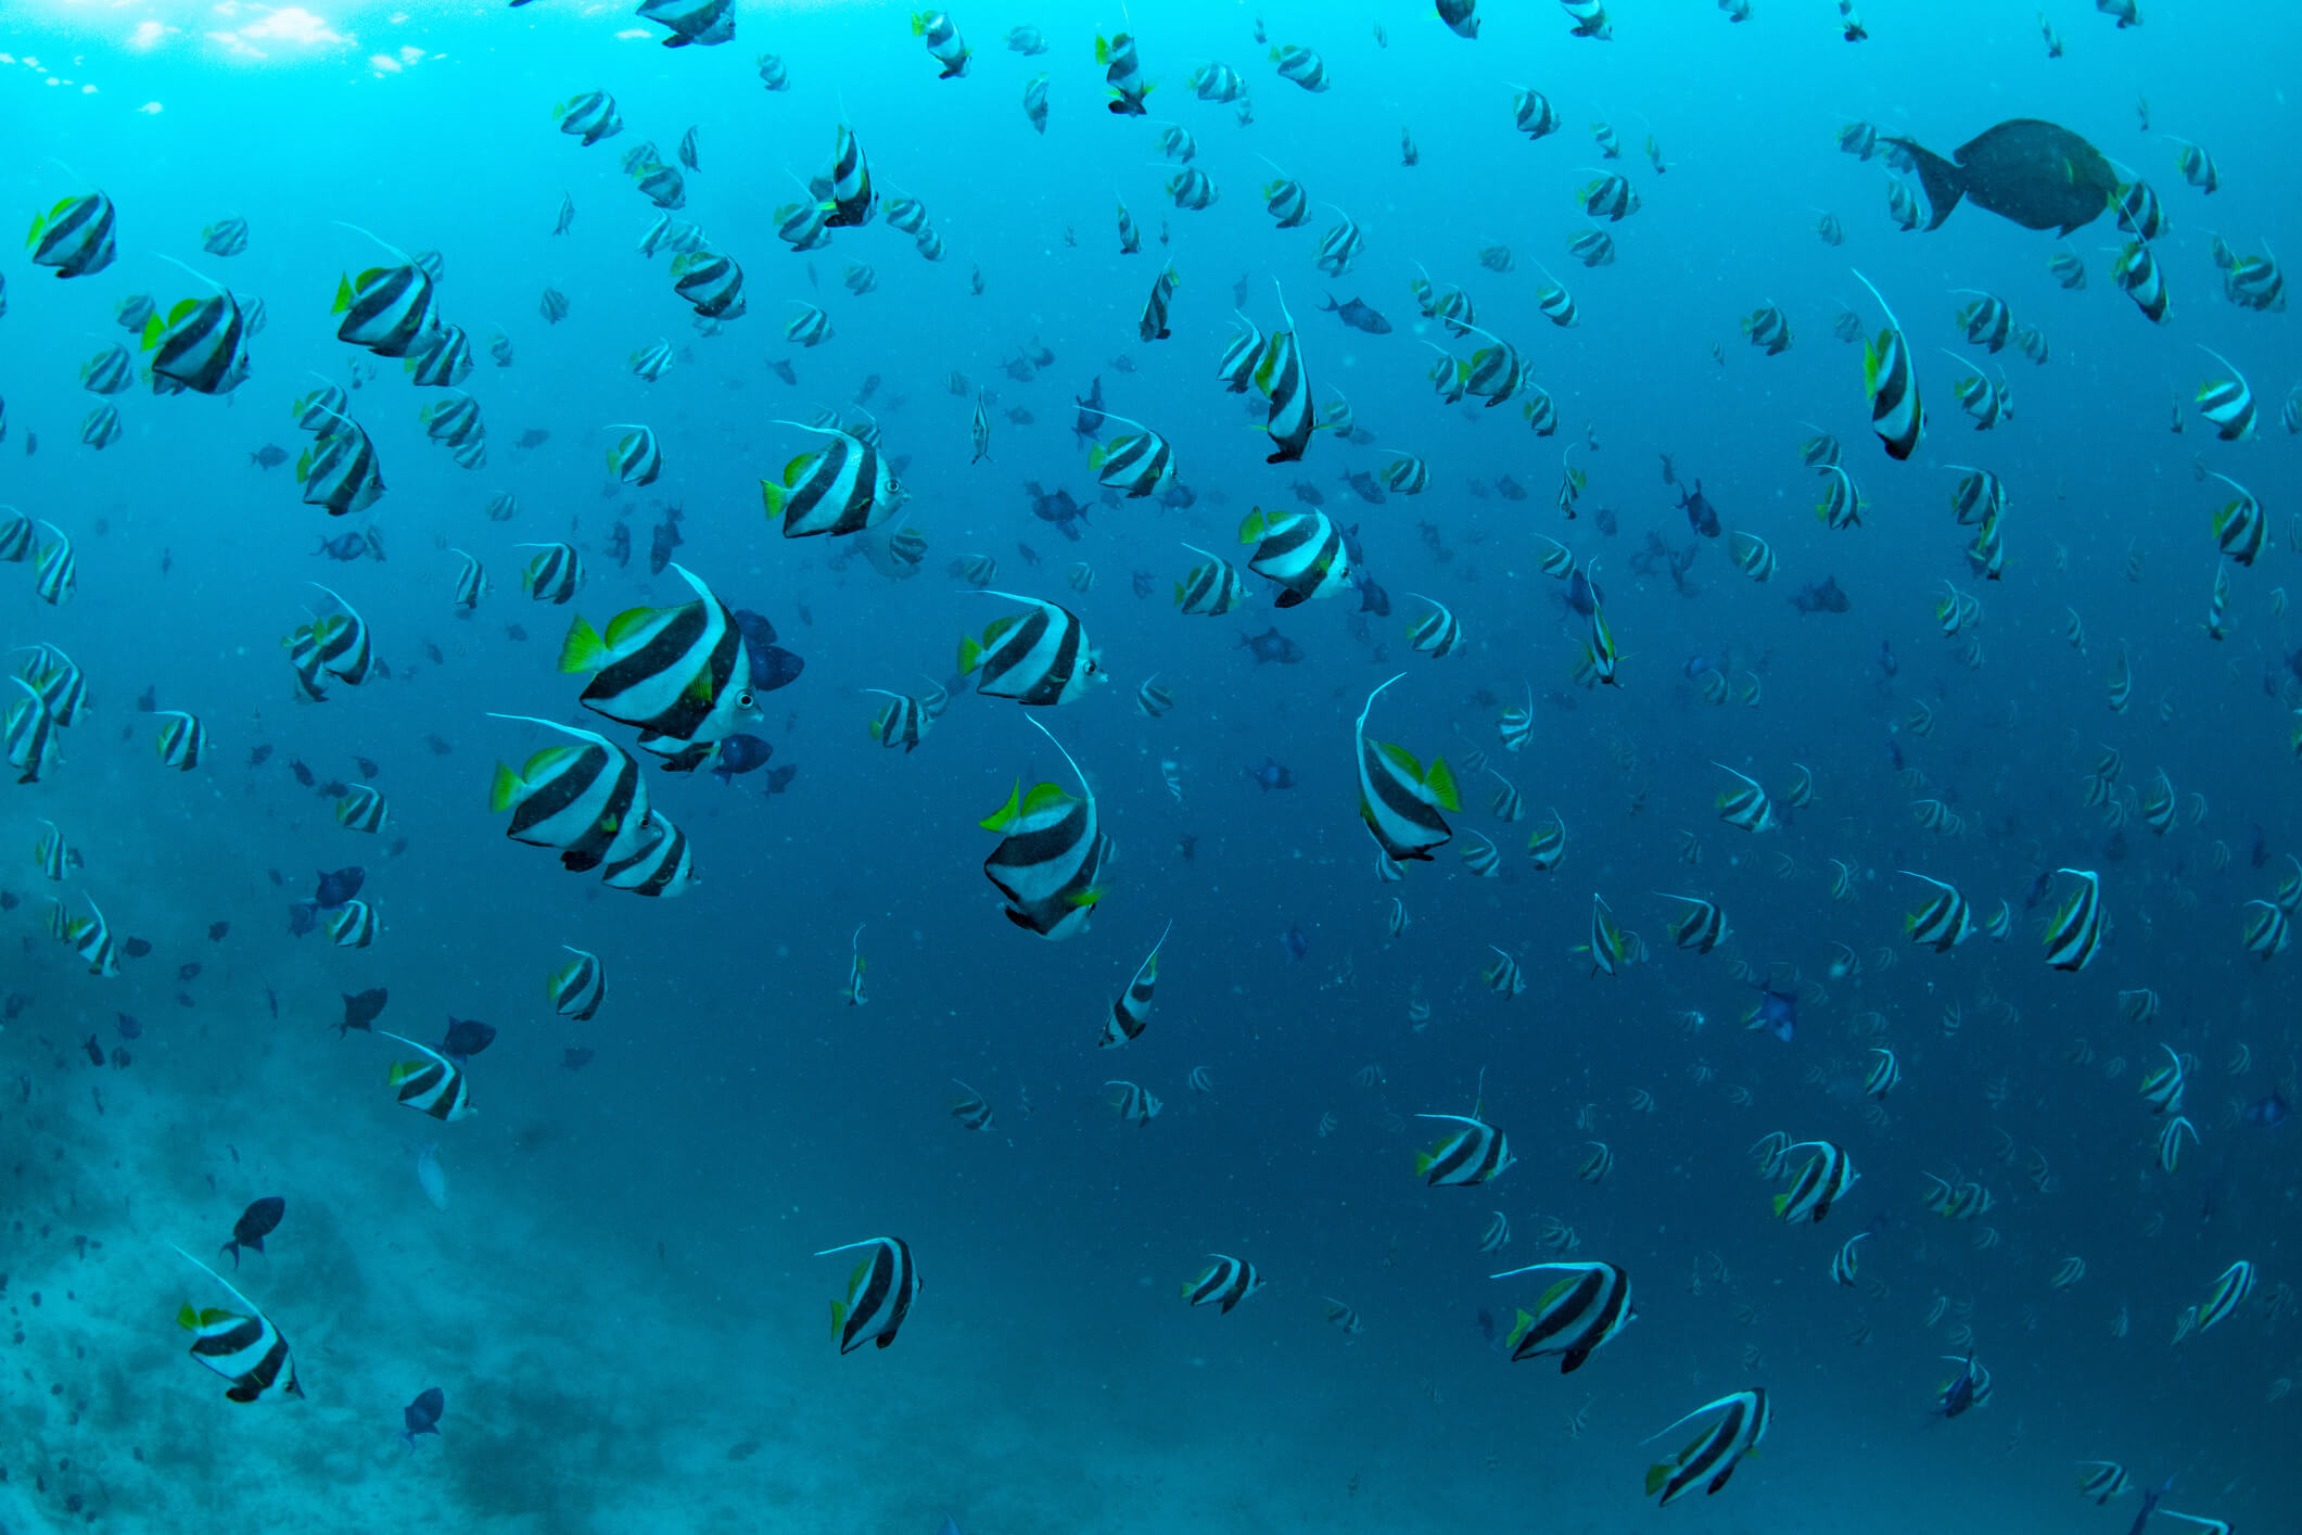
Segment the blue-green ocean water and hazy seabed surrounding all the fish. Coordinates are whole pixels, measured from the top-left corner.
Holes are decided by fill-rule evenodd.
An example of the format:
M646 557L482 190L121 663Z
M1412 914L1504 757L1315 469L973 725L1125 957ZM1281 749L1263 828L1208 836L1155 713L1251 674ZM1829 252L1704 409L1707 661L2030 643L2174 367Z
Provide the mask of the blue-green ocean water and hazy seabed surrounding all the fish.
M23 246L0 249L0 504L64 527L78 552L62 608L37 601L30 564L0 566L0 633L69 651L92 702L51 776L0 789L0 888L16 898L0 914L0 1528L932 1535L951 1514L967 1535L1572 1535L1639 1519L2116 1535L2136 1498L2081 1500L2079 1459L2122 1461L2139 1487L2171 1475L2168 1507L2238 1528L2302 1526L2302 1402L2286 1395L2302 1379L2302 1125L2244 1114L2295 1100L2302 960L2265 962L2240 941L2244 902L2272 898L2288 854L2302 856L2302 619L2284 603L2302 591L2288 543L2302 486L2279 421L2302 354L2286 313L2221 299L2208 251L2212 230L2242 251L2302 253L2288 101L2302 16L2145 0L2143 25L2116 30L2093 5L2049 0L2067 41L2049 60L2035 7L1984 0L1860 0L1860 46L1842 41L1828 0L1756 0L1743 25L1699 0L1618 0L1611 41L1568 37L1549 0L1480 9L1485 30L1464 41L1404 0L967 7L953 18L974 67L939 81L898 5L737 0L732 44L679 51L626 7L564 0L5 7L0 209L30 221L101 186L120 258L60 283ZM1333 90L1282 81L1252 41L1257 16L1273 44L1317 48ZM1004 48L1022 23L1045 30L1043 58ZM1158 81L1153 122L1103 110L1096 32L1121 25ZM767 51L787 62L787 92L762 90ZM1186 76L1206 60L1250 81L1250 127L1192 99ZM1041 71L1045 136L1020 108ZM1522 85L1552 97L1565 131L1531 143L1512 129ZM582 147L550 108L596 87L628 127ZM884 216L806 255L776 239L773 209L824 166L843 117L882 196L928 205L946 260L921 260ZM1947 154L2005 117L2060 122L2157 186L2173 219L2157 244L2164 327L2111 283L2111 219L2072 237L2088 285L2065 292L2046 269L2051 235L1973 207L1904 235L1883 163L1832 140L1869 120ZM1213 207L1165 200L1160 120L1197 136ZM1618 260L1584 269L1563 246L1586 228L1575 193L1600 166L1595 120L1621 133L1607 170L1630 175L1644 207L1609 226ZM656 209L622 173L626 150L654 140L670 156L688 127L700 173L679 216L746 274L748 315L711 336L665 258L635 251ZM1420 147L1413 168L1402 129ZM1667 175L1639 150L1648 131ZM2166 133L2212 150L2219 191L2182 182ZM1312 267L1333 209L1273 228L1259 156L1360 223L1367 249L1347 276ZM576 223L552 237L562 196ZM1139 255L1116 253L1114 196L1144 230ZM1844 246L1816 237L1819 209L1844 221ZM203 253L200 230L228 214L249 221L246 253ZM456 467L417 421L437 391L371 359L352 403L389 490L343 520L299 504L290 465L249 460L265 444L292 458L304 435L290 400L308 373L348 382L364 357L334 338L329 304L338 274L389 258L338 221L444 255L442 308L481 352L467 387L490 426L488 465ZM1517 269L1482 269L1487 244L1508 244ZM113 306L150 292L166 311L200 292L163 255L265 299L253 375L226 398L138 384L115 400L122 440L92 451L81 421L101 400L78 368L127 338ZM840 288L849 260L877 269L875 292ZM1167 260L1174 334L1146 345L1137 315ZM1579 327L1538 313L1538 260L1572 288ZM1469 288L1480 322L1526 352L1558 403L1556 437L1535 437L1517 403L1434 396L1423 341L1448 338L1409 297L1418 262ZM1878 451L1860 345L1830 334L1849 306L1865 329L1881 322L1849 267L1915 350L1929 430L1911 463ZM1264 329L1282 285L1319 403L1344 391L1372 446L1319 433L1305 463L1264 463L1259 412L1213 375L1241 278ZM569 299L562 324L539 315L546 285ZM1994 433L1968 430L1950 396L1941 348L1980 357L1952 324L1957 288L2000 295L2051 343L2044 366L1994 359L2017 400ZM1321 292L1365 299L1393 334L1344 329L1319 313ZM787 343L787 301L824 306L833 341ZM1782 357L1740 334L1768 301L1796 334ZM516 350L509 368L486 357L495 329ZM1034 338L1057 361L1029 382L1001 373ZM647 384L626 357L656 341L677 364ZM2251 382L2254 442L2217 442L2192 407L2224 377L2198 345ZM778 359L796 387L769 371ZM985 463L969 463L974 400L951 394L953 373L994 394ZM847 407L868 375L930 543L902 582L849 541L787 541L760 513L757 481L813 446L778 419ZM1022 486L1093 502L1070 430L1093 377L1112 412L1174 442L1197 504L1091 504L1070 543ZM661 437L649 488L603 472L608 423L626 421ZM1584 516L1563 520L1561 451L1586 442L1586 423L1598 446L1572 451ZM1867 499L1860 529L1814 518L1802 423L1842 440ZM548 440L516 449L527 428ZM1430 463L1430 490L1363 504L1342 476L1393 451ZM1657 453L1701 479L1731 529L1773 543L1773 582L1745 580L1724 539L1690 534ZM1987 465L2010 488L2000 582L1966 566L1947 463ZM2228 564L2210 529L2228 490L2201 481L2201 463L2244 481L2272 532L2254 568L2228 568L2221 642L2201 624ZM1503 474L1524 502L1494 492ZM1273 612L1268 582L1248 575L1241 612L1181 617L1169 587L1197 557L1179 543L1243 564L1238 520L1294 506L1298 479L1356 525L1395 614L1360 617L1354 591ZM483 504L506 490L518 516L488 520ZM640 900L502 835L493 764L546 741L488 711L628 741L576 704L580 681L555 654L576 612L603 624L686 598L674 575L647 575L645 555L628 568L605 555L617 520L645 550L668 506L684 509L677 559L806 658L755 727L799 771L764 794L762 773L723 785L649 766L656 805L695 842L700 886ZM371 525L382 562L313 552ZM1586 624L1538 571L1538 532L1600 564L1621 688L1572 681ZM1706 543L1687 591L1634 568L1651 534ZM589 568L569 608L518 589L516 543L552 539ZM467 619L451 610L451 545L495 585ZM997 557L997 589L1077 612L1112 672L1087 700L1034 711L1116 840L1114 888L1068 944L1001 921L981 875L997 838L976 822L1017 776L1075 787L1024 713L955 686L918 753L866 734L884 700L863 688L951 679L960 635L1013 610L946 573L971 552ZM1084 594L1066 585L1082 559ZM1137 571L1156 578L1149 598L1130 589ZM1823 578L1849 612L1800 614L1786 598ZM308 621L311 580L359 608L389 679L292 702L281 637ZM1964 635L1941 633L1945 580L1982 598L1980 665L1961 658ZM1423 610L1409 591L1453 608L1457 654L1409 649ZM2065 637L2072 612L2083 654ZM1301 665L1255 665L1241 647L1273 624ZM2113 713L2120 644L2134 702ZM1738 693L1754 679L1756 704L1706 702L1697 656ZM1501 824L1494 778L1464 771L1455 845L1377 884L1351 723L1400 670L1370 736L1457 769L1487 753L1529 819ZM1153 672L1176 697L1158 720L1133 707ZM1529 686L1533 741L1510 755L1496 716ZM136 707L147 688L207 725L212 757L193 773L157 762L157 720ZM1920 704L1934 713L1922 736ZM276 750L249 766L258 746ZM2122 787L2164 769L2180 796L2203 796L2203 817L2113 833L2081 799L2104 746L2125 753ZM288 771L359 780L357 755L380 764L382 838L338 828L334 801ZM1243 776L1266 757L1294 787ZM1745 835L1717 819L1733 780L1713 762L1766 782L1777 808L1802 764L1816 799ZM1957 810L1966 835L1920 831L1906 810L1920 796ZM1524 838L1554 810L1568 854L1538 872ZM85 858L64 886L32 861L41 819ZM1499 879L1455 856L1469 831L1506 851ZM1683 833L1699 845L1692 868ZM1858 870L1849 900L1830 895L1832 858ZM313 870L355 863L378 941L290 937L285 907L308 898ZM2111 918L2076 976L2042 962L2053 902L2023 911L2035 875L2060 865L2102 872ZM2012 932L1947 955L1908 944L1922 886L1895 877L1904 868L1954 881L1977 921L2014 902ZM51 891L74 914L92 895L150 955L120 978L87 976L48 937ZM1678 907L1653 891L1720 902L1731 944L1671 948ZM1570 953L1588 941L1593 893L1651 950L1616 978ZM1395 941L1393 895L1413 918ZM1098 1052L1110 1001L1169 921L1151 1029ZM230 923L221 941L212 923ZM859 923L868 1003L849 1008ZM592 1022L555 1017L543 996L562 944L608 967ZM1830 971L1837 944L1860 973ZM1482 983L1489 946L1524 964L1522 996ZM1793 1040L1740 1026L1754 992L1729 973L1736 955L1805 978ZM338 1038L338 994L375 985L391 992L382 1029L435 1040L449 1015L500 1029L470 1068L474 1118L407 1114L384 1084L405 1052ZM2118 994L2139 987L2162 996L2148 1026L2120 1019ZM1413 999L1430 1003L1423 1026ZM134 1043L117 1013L140 1019ZM1851 1026L1865 1013L1883 1015L1904 1070L1883 1123L1865 1116L1869 1040ZM87 1036L131 1061L92 1066ZM2175 1174L2134 1091L2162 1043L2192 1056L2198 1144ZM569 1070L569 1047L596 1054ZM2247 1070L2233 1072L2240 1047ZM1192 1068L1213 1093L1188 1086ZM988 1132L946 1114L955 1077L997 1109ZM1142 1082L1163 1114L1119 1123L1105 1079ZM1641 1091L1653 1112L1630 1107ZM1473 1100L1519 1164L1480 1190L1423 1187L1411 1158L1432 1128L1413 1116ZM1770 1130L1851 1151L1860 1181L1821 1227L1773 1220L1773 1187L1745 1155ZM414 1176L428 1141L444 1211ZM1604 1183L1575 1178L1586 1141L1616 1155ZM2021 1160L2000 1162L2003 1141ZM2033 1148L2049 1190L2026 1178ZM1996 1197L1977 1222L1920 1204L1922 1174L1954 1169ZM265 1194L285 1197L285 1222L267 1254L223 1273L290 1339L308 1399L237 1406L184 1358L177 1305L223 1298L168 1243L212 1257ZM1494 1211L1512 1243L1489 1254L1478 1240ZM1508 1326L1540 1293L1487 1275L1547 1257L1545 1217L1575 1229L1570 1257L1621 1263L1637 1284L1639 1319L1572 1376L1508 1365L1476 1326L1482 1309ZM1862 1284L1835 1286L1830 1257L1862 1229ZM1996 1245L1977 1247L1982 1229ZM868 1236L912 1245L923 1293L893 1349L843 1358L824 1303L852 1259L810 1254ZM1225 1316L1186 1307L1176 1286L1209 1252L1250 1259L1268 1286ZM2086 1277L2053 1289L2067 1257ZM2238 1259L2261 1275L2254 1300L2168 1344L2182 1307ZM1365 1330L1331 1328L1324 1296ZM1947 1307L1929 1323L1936 1300ZM1961 1321L1996 1395L1943 1420L1929 1408L1957 1369L1943 1355L1964 1353ZM410 1450L401 1408L426 1385L444 1390L447 1415ZM1639 1441L1745 1385L1773 1399L1763 1450L1715 1498L1641 1510L1646 1466L1676 1443Z

